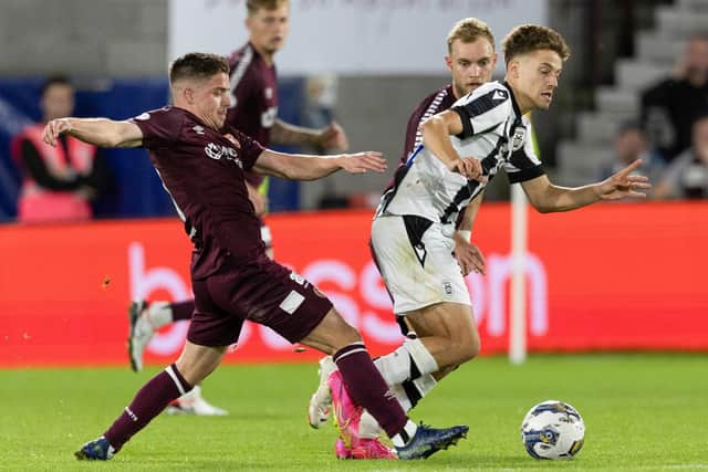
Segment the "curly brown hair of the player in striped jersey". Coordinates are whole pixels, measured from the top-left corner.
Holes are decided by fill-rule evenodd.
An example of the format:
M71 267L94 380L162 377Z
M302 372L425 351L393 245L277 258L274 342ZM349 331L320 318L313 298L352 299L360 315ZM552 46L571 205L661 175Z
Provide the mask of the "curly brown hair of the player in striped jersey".
M571 56L571 49L563 36L558 31L539 24L522 24L514 28L501 41L501 46L507 64L519 54L540 50L551 50L558 53L562 61L568 61Z

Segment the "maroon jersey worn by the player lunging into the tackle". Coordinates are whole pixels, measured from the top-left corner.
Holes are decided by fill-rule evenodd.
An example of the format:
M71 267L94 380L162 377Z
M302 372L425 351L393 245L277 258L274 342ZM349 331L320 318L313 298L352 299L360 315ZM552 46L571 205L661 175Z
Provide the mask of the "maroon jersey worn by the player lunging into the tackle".
M264 251L244 183L244 171L263 150L258 141L229 125L217 132L177 107L144 113L133 123L195 243L195 280L215 273L226 258L251 260Z

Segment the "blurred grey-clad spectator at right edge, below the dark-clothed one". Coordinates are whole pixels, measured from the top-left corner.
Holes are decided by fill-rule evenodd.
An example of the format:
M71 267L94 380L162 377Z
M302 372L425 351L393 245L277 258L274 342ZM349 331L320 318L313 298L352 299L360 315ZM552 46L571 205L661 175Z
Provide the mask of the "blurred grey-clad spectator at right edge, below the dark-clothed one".
M694 123L691 138L693 146L666 169L656 198L708 198L708 114Z

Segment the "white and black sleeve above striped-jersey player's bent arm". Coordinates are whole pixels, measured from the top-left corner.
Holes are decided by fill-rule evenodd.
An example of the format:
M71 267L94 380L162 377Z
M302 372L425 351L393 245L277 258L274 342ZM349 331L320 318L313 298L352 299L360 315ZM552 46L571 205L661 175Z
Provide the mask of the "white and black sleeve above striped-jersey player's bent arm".
M467 95L451 108L462 120L462 133L457 137L466 139L498 126L507 119L511 108L511 97L504 88L492 88L483 95Z

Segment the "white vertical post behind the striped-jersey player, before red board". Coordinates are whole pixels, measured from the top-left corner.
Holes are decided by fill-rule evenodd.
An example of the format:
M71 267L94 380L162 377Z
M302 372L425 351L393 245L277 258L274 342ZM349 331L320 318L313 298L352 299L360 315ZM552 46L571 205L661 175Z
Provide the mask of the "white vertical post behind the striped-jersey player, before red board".
M511 186L511 314L509 319L509 360L527 359L525 253L529 219L527 196L520 183Z

